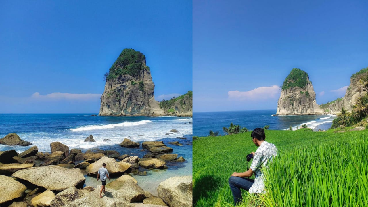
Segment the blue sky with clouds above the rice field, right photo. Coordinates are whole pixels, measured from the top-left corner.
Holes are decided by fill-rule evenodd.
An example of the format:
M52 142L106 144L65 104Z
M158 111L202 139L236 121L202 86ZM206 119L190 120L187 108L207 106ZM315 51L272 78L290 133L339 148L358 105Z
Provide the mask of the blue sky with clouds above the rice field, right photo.
M309 74L318 104L343 97L368 67L367 9L365 0L194 1L194 112L276 112L294 67Z

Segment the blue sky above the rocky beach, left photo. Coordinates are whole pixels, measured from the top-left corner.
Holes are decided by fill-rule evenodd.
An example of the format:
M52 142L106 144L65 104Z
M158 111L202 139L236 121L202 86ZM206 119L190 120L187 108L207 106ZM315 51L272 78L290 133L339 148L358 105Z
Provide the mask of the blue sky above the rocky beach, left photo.
M161 101L192 90L191 1L0 1L0 113L98 113L124 48Z

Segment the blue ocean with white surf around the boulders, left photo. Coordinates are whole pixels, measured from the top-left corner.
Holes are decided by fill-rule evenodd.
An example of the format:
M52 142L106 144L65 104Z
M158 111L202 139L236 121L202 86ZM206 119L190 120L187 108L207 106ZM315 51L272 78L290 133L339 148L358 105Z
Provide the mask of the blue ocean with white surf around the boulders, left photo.
M91 114L0 114L0 138L8 133L17 133L22 140L38 147L38 151L50 152L50 143L59 141L70 149L77 148L85 152L91 148L116 150L123 154L143 157L148 151L120 147L124 138L132 141L163 141L173 148L178 157L183 156L184 163L169 163L166 170L147 170L147 176L133 175L142 189L157 194L159 183L172 176L192 175L192 118L190 117L115 117L91 116ZM177 129L178 133L170 133ZM84 142L90 134L96 142ZM186 139L178 139L184 137ZM111 142L103 142L109 139ZM168 144L179 141L183 146ZM0 151L15 150L22 152L30 146L7 146L0 144ZM86 177L86 186L97 186L96 178Z

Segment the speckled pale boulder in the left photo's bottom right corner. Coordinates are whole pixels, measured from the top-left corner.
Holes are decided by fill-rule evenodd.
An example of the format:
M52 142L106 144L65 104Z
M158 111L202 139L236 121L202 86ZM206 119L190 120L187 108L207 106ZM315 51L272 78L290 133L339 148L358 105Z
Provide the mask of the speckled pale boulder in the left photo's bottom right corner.
M192 176L171 177L160 183L157 194L170 207L191 207L192 185Z

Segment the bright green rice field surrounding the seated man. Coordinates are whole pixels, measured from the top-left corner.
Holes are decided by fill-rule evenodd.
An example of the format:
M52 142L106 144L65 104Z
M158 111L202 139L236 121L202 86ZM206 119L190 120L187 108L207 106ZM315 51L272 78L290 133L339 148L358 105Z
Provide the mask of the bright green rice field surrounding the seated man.
M194 140L194 206L233 206L228 179L247 170L245 156L257 149L250 134ZM368 130L266 130L266 141L279 150L265 172L267 193L243 191L241 206L368 206Z

